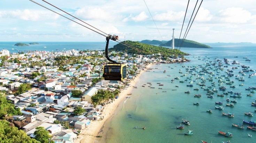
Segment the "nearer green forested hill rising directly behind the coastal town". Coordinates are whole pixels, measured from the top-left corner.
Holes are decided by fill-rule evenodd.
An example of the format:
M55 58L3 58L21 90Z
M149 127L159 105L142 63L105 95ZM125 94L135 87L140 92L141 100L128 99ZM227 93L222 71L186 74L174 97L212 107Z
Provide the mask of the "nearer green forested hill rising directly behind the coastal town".
M126 45L129 45L129 47ZM170 48L158 47L158 46L143 44L143 43L134 42L134 41L121 42L119 44L114 45L114 48L109 48L109 51L122 51L122 52L127 52L128 54L142 54L142 55L157 54L157 53L161 53L162 55L166 55L166 56L171 56L173 54L179 55L179 56L188 55L187 53L184 53L178 49L172 50Z

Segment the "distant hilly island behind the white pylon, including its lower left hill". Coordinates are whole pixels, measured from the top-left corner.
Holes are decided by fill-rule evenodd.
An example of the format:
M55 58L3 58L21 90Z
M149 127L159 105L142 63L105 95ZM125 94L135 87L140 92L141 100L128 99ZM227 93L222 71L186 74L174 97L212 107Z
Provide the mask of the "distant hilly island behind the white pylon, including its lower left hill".
M182 42L183 39L174 39L174 47L177 49L177 47L180 47L180 44ZM151 44L151 45L160 45L163 47L171 47L172 46L172 40L170 41L157 41L157 40L142 40L140 41L140 43L145 43L145 44ZM179 45L178 45L179 44ZM211 48L208 45L199 43L199 42L195 42L192 40L184 40L183 44L181 45L181 47L187 47L187 48Z

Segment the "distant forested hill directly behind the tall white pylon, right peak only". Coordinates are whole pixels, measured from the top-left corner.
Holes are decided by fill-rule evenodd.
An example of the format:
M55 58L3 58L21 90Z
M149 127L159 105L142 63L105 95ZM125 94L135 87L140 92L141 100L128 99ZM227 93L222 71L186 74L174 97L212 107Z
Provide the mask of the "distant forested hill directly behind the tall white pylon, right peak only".
M180 44L182 42L183 39L174 39L174 47L180 47ZM179 43L179 45L178 45ZM172 45L172 40L166 42L165 44L161 44L160 46L167 46L167 47L171 47ZM188 47L188 48L211 48L210 46L208 45L205 45L205 44L202 44L202 43L199 43L199 42L195 42L195 41L192 41L192 40L184 40L183 44L181 47Z

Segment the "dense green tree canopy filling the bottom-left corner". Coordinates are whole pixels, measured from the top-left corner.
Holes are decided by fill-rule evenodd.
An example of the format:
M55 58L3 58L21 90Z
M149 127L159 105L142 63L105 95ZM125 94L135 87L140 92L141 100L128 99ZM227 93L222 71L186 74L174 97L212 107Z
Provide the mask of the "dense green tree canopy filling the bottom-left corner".
M24 131L11 127L8 121L0 120L0 143L39 143Z

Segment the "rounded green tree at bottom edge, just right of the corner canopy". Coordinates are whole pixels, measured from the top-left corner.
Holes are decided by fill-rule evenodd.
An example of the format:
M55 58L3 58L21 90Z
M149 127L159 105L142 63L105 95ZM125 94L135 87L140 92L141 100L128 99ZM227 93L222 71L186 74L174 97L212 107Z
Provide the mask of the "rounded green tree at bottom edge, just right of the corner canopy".
M36 127L36 131L34 132L35 139L39 142L48 143L49 139L52 138L49 135L49 132L45 130L44 127Z

